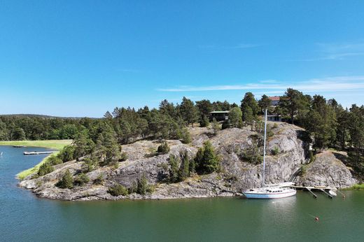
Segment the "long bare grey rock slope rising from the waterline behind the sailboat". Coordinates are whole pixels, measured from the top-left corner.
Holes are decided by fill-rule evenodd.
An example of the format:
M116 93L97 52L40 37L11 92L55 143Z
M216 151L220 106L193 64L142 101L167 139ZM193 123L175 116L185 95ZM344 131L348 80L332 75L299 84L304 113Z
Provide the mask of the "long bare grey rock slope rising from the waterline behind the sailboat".
M288 181L302 164L307 163L307 144L300 139L303 129L283 122L274 126L269 122L269 126L273 127L273 136L269 137L267 141L265 183ZM20 182L20 186L33 190L39 197L49 199L116 200L234 196L241 194L243 190L262 185L262 162L248 160L244 156L246 150L258 148L257 142L255 142L257 137L255 131L251 131L249 128L233 128L218 131L218 134L214 135L214 131L209 128L190 128L190 134L193 141L188 145L181 141L167 141L171 150L169 154L165 155L153 155L160 145L158 141L137 141L130 145L123 145L123 151L127 152L128 157L125 162L119 162L118 167L102 166L87 173L90 182L83 186L75 186L71 190L60 189L55 184L62 178L66 169L69 169L73 176L77 176L82 171L82 160L59 164L55 166L55 171L40 178L29 176ZM169 156L186 152L190 159L193 159L198 148L207 140L211 142L217 155L221 158L221 172L204 176L195 175L181 183L165 183L169 176ZM260 152L262 152L262 147L260 147ZM319 161L318 157L317 162ZM320 169L325 167L328 170L327 174L332 176L331 178L325 175L319 176L319 170L312 168L312 172L318 172L317 176L320 177L322 183L328 183L325 185L332 183L349 185L353 182L350 180L350 172L346 172L344 167L337 166L337 169L332 170L330 164L325 164L325 162L317 164L321 164ZM333 173L336 175L332 175ZM134 187L142 174L148 180L148 184L155 188L151 194L141 196L132 193L127 196L113 197L107 192L109 187L114 184L121 184L127 188ZM102 185L95 185L94 180L100 175L104 178L104 182ZM305 179L305 183L309 183L310 179ZM349 182L345 183L345 180L348 179ZM314 180L313 176L312 180Z

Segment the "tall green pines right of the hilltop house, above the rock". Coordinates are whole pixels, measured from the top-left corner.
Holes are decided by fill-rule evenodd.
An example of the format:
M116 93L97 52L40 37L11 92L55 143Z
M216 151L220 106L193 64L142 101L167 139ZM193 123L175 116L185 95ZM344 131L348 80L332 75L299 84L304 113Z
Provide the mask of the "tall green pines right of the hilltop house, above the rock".
M288 88L279 105L272 107L266 95L256 101L254 95L247 92L241 101L243 125L255 123L265 109L306 129L307 141L316 150L350 148L355 150L356 159L363 152L364 106L353 104L351 108L343 108L335 99L326 100L321 95L311 97Z

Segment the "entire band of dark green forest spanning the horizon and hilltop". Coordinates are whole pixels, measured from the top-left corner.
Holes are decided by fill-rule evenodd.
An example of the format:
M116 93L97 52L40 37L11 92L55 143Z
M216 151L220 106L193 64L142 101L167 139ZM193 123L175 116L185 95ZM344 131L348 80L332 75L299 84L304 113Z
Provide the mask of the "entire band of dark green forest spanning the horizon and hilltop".
M276 107L271 106L266 95L257 101L251 92L247 92L240 106L206 99L193 102L183 97L181 104L163 100L159 108L145 106L137 111L134 108L115 108L99 119L3 115L0 116L0 140L73 139L75 144L88 142L97 145L160 138L189 143L186 127L197 123L200 127L209 126L211 111L230 111L229 120L223 122L223 129L243 126L253 129L261 122L265 109L281 115L286 122L304 127L316 150L350 148L357 159L363 152L364 106L353 104L350 108L343 108L335 99L326 100L320 95L311 97L290 88ZM212 127L217 128L216 123Z

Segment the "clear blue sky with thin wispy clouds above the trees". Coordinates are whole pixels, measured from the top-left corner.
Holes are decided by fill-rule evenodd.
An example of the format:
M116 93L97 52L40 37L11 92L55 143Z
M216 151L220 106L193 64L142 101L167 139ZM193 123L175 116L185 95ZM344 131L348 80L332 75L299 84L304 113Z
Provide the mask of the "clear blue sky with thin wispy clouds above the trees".
M364 104L364 1L0 1L0 113L294 87Z

